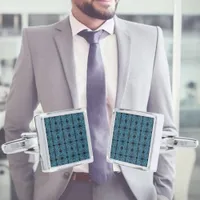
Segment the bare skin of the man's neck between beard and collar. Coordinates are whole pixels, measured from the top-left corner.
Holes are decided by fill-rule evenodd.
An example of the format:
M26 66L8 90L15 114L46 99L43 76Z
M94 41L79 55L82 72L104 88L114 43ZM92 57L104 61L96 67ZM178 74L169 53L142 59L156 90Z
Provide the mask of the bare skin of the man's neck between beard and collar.
M81 22L91 30L98 29L105 22L105 20L89 17L81 10L79 10L75 5L73 5L72 7L72 14L79 22Z

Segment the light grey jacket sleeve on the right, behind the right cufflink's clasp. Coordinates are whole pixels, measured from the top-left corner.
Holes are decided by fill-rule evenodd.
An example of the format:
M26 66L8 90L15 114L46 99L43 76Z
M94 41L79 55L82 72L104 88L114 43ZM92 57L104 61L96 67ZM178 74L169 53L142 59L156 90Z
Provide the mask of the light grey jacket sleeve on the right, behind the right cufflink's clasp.
M147 110L149 112L164 114L163 136L177 135L172 116L169 66L164 48L163 32L160 27L157 27L157 47ZM174 178L175 152L161 153L157 172L154 173L154 185L158 199L173 199Z

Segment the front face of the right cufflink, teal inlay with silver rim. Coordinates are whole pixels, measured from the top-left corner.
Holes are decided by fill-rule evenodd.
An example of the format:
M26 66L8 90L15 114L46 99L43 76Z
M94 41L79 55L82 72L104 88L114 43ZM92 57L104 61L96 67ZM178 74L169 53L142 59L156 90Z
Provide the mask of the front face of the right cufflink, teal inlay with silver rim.
M130 110L113 112L108 161L142 170L151 168L156 116Z

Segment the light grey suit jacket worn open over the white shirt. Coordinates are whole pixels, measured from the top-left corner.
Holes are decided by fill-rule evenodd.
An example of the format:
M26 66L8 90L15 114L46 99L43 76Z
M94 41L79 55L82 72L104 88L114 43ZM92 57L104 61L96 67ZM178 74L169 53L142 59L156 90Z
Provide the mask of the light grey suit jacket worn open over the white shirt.
M169 69L159 27L131 23L115 17L119 76L116 107L163 113L163 135L176 135L172 119ZM23 30L6 107L6 141L29 129L38 103L44 112L79 108L75 84L72 34L68 17L45 27ZM67 187L72 169L33 172L24 153L8 156L20 200L58 200ZM156 173L121 167L138 200L171 200L175 154L160 155Z

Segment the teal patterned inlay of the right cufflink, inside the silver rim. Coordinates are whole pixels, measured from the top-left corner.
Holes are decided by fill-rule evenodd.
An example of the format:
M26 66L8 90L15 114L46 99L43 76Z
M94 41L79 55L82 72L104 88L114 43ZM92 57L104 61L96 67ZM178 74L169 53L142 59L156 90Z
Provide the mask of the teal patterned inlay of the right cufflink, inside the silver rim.
M110 157L147 167L154 118L116 112Z

